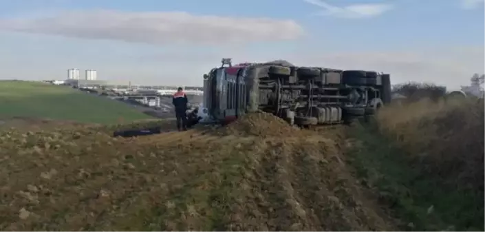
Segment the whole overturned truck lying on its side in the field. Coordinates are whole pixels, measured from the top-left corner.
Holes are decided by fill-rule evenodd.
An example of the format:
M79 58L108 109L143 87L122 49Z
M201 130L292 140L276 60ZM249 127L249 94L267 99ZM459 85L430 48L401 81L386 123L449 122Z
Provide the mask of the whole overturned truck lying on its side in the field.
M220 123L261 110L292 125L338 124L375 114L390 101L389 74L373 71L222 59L204 74L204 114Z

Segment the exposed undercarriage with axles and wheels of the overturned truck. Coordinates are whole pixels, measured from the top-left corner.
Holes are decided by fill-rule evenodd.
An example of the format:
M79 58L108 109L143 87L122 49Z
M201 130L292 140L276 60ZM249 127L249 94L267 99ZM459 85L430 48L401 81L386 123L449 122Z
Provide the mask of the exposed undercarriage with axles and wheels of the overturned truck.
M374 114L384 103L382 88L363 74L316 67L299 67L296 76L270 74L259 79L259 109L297 125L336 124Z

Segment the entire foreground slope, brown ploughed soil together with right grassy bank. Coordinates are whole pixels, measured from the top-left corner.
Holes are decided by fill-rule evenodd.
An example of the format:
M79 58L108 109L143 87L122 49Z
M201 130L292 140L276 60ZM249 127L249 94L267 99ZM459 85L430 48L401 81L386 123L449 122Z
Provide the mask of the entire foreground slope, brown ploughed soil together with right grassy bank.
M483 231L481 106L312 130L262 113L140 138L3 130L0 231Z

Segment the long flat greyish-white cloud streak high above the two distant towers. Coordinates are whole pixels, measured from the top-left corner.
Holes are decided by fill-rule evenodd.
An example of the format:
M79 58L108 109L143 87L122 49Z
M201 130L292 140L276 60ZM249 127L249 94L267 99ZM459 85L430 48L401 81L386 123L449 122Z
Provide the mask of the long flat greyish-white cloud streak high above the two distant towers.
M34 19L1 19L0 30L152 44L287 41L303 34L303 28L292 20L114 10L61 12Z

